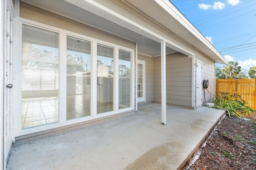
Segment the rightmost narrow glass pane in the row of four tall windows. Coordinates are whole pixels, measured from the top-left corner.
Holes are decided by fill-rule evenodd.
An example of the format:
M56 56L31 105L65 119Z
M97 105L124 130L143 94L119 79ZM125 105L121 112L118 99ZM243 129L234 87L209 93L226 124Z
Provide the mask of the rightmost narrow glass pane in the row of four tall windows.
M118 108L131 107L131 52L119 49Z

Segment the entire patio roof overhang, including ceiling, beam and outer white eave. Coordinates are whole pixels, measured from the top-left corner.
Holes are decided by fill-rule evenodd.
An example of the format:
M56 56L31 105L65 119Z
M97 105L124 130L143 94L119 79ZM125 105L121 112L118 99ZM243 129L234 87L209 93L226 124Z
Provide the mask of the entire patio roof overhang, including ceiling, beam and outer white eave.
M51 3L48 0L22 1L137 42L139 53L142 51L144 54L148 52L150 56L160 55L160 42L166 41L166 53L178 51L193 56L191 49L194 48L216 63L227 63L214 46L168 0L54 0ZM140 15L136 16L118 3L126 4L130 10ZM141 16L149 19L151 23L140 18ZM160 31L159 27L164 31ZM187 46L190 46L190 50Z

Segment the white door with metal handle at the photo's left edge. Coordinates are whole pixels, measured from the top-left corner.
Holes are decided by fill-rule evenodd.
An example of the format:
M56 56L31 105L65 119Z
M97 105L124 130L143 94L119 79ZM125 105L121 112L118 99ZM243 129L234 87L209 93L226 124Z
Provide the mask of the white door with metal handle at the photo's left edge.
M5 32L4 32L4 165L6 164L6 159L14 141L13 126L13 89L12 81L14 78L13 74L13 41L14 41L14 14L12 14L11 9L13 9L11 1L7 2L5 8Z

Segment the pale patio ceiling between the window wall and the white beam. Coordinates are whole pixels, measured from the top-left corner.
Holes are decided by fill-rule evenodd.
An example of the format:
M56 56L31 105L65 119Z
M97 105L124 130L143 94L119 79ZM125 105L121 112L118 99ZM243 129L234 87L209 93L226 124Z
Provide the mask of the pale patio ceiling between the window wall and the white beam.
M74 5L65 0L21 0L26 4L30 4L32 6L36 6L38 8L42 8L46 11L58 14L60 16L64 16L74 21L78 21L80 23L84 23L96 29L106 31L113 35L117 35L119 37L123 37L124 39L128 39L130 41L136 42L138 44L138 53L142 53L148 56L157 56L160 55L160 42L154 41L148 37L141 35L138 32L132 31L126 27L124 27L120 23L114 23L108 20L106 15L100 16L99 13L101 9L94 7L90 4L87 4L88 8L92 8L94 13L89 10L85 10L82 8L82 5ZM50 2L50 3L49 3ZM76 2L79 2L76 1ZM82 4L86 3L84 0L80 0ZM107 4L114 4L111 1L105 1ZM21 6L27 6L26 4L21 3ZM80 4L80 3L78 3ZM90 7L92 6L92 7ZM118 20L119 21L119 20ZM124 23L124 22L122 22ZM173 47L169 45L170 47ZM166 53L175 53L177 52L175 49L166 47Z

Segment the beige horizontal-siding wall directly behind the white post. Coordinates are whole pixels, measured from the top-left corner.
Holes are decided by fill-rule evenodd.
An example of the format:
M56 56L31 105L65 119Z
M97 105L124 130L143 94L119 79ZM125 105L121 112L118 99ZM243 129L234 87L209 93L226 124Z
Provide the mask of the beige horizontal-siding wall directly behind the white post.
M166 56L166 104L191 107L191 58ZM154 57L154 102L161 102L161 58Z

